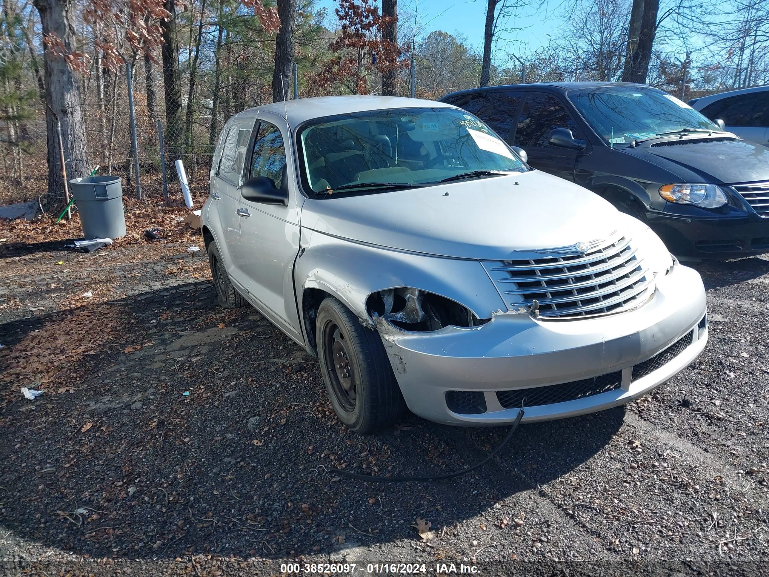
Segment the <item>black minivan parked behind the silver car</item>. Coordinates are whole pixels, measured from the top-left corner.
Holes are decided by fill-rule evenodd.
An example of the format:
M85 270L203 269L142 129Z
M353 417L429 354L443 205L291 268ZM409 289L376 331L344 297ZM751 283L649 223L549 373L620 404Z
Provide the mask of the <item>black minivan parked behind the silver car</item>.
M640 218L679 258L769 252L769 148L646 85L557 82L445 96L528 164Z

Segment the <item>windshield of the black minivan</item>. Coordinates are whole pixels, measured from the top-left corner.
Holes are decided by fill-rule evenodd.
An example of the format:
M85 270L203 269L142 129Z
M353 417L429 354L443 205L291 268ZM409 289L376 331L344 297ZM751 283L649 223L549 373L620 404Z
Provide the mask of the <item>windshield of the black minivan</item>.
M643 86L571 90L567 97L598 134L612 144L629 144L662 132L721 128L669 94Z

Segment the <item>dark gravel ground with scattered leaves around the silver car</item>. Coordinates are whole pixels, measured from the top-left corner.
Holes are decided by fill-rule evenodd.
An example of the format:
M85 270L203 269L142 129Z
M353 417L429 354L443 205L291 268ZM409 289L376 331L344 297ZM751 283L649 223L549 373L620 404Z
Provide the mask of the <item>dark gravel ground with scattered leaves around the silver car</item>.
M218 309L203 252L58 248L0 252L0 575L767 574L765 258L697 265L710 342L651 395L521 426L449 482L377 485L319 465L450 472L507 429L407 415L352 434L315 359Z

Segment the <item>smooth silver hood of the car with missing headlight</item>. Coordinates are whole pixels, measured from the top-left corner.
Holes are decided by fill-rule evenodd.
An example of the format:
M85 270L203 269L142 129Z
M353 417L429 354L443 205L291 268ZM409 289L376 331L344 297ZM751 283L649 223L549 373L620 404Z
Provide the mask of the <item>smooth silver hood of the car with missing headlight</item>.
M619 225L617 209L603 198L539 171L308 199L301 210L302 228L327 235L481 260L607 238Z

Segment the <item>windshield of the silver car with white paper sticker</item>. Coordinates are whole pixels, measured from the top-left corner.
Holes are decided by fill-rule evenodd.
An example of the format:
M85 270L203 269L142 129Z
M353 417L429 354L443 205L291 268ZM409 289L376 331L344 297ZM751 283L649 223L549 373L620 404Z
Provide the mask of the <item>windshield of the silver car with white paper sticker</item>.
M298 144L302 184L322 195L341 187L371 192L384 185L437 184L469 172L474 174L468 178L483 178L494 171L528 170L491 128L456 108L316 118L300 129Z

